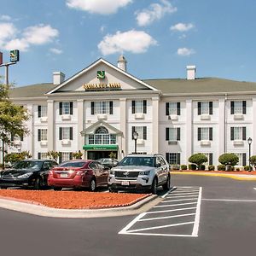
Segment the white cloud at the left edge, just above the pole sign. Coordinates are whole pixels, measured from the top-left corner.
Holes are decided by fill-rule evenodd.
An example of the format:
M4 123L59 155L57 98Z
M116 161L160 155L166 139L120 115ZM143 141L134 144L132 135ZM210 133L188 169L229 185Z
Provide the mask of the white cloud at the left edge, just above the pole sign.
M49 25L29 26L19 32L13 23L0 23L0 48L26 51L34 44L47 44L58 35Z

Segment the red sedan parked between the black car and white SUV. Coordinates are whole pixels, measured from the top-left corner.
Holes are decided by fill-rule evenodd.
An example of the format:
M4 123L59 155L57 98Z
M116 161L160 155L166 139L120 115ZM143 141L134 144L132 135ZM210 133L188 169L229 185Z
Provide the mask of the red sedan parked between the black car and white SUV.
M54 190L88 188L108 184L108 168L95 160L69 160L49 171L48 184Z

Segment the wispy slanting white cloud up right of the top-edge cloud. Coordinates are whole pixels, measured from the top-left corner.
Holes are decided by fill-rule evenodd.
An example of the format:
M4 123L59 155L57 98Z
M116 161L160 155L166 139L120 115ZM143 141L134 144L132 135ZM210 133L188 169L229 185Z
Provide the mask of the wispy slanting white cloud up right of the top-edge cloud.
M143 9L141 12L137 12L136 19L138 26L148 26L154 20L160 20L166 14L172 14L177 11L176 7L172 6L172 3L161 0L160 3L152 3L148 9Z

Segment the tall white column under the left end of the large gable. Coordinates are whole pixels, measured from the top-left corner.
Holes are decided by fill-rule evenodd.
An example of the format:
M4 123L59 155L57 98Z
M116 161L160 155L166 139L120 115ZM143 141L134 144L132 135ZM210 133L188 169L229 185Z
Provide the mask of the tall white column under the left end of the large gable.
M55 138L55 113L54 113L54 101L47 101L47 140L48 140L48 151L55 149L54 141L58 138Z

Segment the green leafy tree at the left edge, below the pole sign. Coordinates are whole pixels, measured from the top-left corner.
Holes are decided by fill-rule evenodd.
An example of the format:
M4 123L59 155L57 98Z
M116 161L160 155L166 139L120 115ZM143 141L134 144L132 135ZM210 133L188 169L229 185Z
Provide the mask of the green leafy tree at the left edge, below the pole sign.
M5 145L13 146L11 136L24 136L28 133L26 120L29 114L26 108L15 105L9 100L10 86L0 83L0 139L2 141L3 166Z

